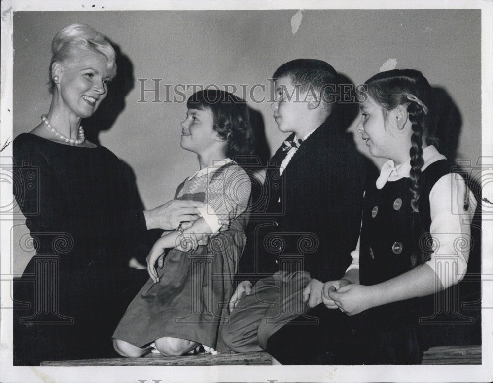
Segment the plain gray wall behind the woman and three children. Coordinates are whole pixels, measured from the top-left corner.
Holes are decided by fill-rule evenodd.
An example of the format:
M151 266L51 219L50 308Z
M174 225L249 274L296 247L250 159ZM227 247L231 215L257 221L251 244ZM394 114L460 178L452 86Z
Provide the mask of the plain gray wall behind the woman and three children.
M307 10L299 30L291 32L296 10L273 11L101 11L15 12L13 135L27 132L47 113L51 40L71 23L87 23L117 44L133 65L134 88L111 129L99 135L134 170L145 206L166 202L197 160L179 146L180 102L139 103L140 83L265 84L275 69L295 58L332 64L355 84L379 71L389 58L397 68L423 72L443 88L462 119L458 159L481 154L481 14L479 10ZM268 89L268 88L267 88ZM164 98L164 87L161 88ZM186 96L192 90L185 92ZM242 96L241 92L237 95ZM258 96L258 93L255 94ZM251 101L249 96L247 101ZM265 123L271 153L280 133L270 104L251 103ZM352 124L354 131L355 124ZM359 134L355 142L369 156ZM370 156L369 156L370 157ZM378 165L383 160L375 160ZM15 255L22 271L27 255Z

